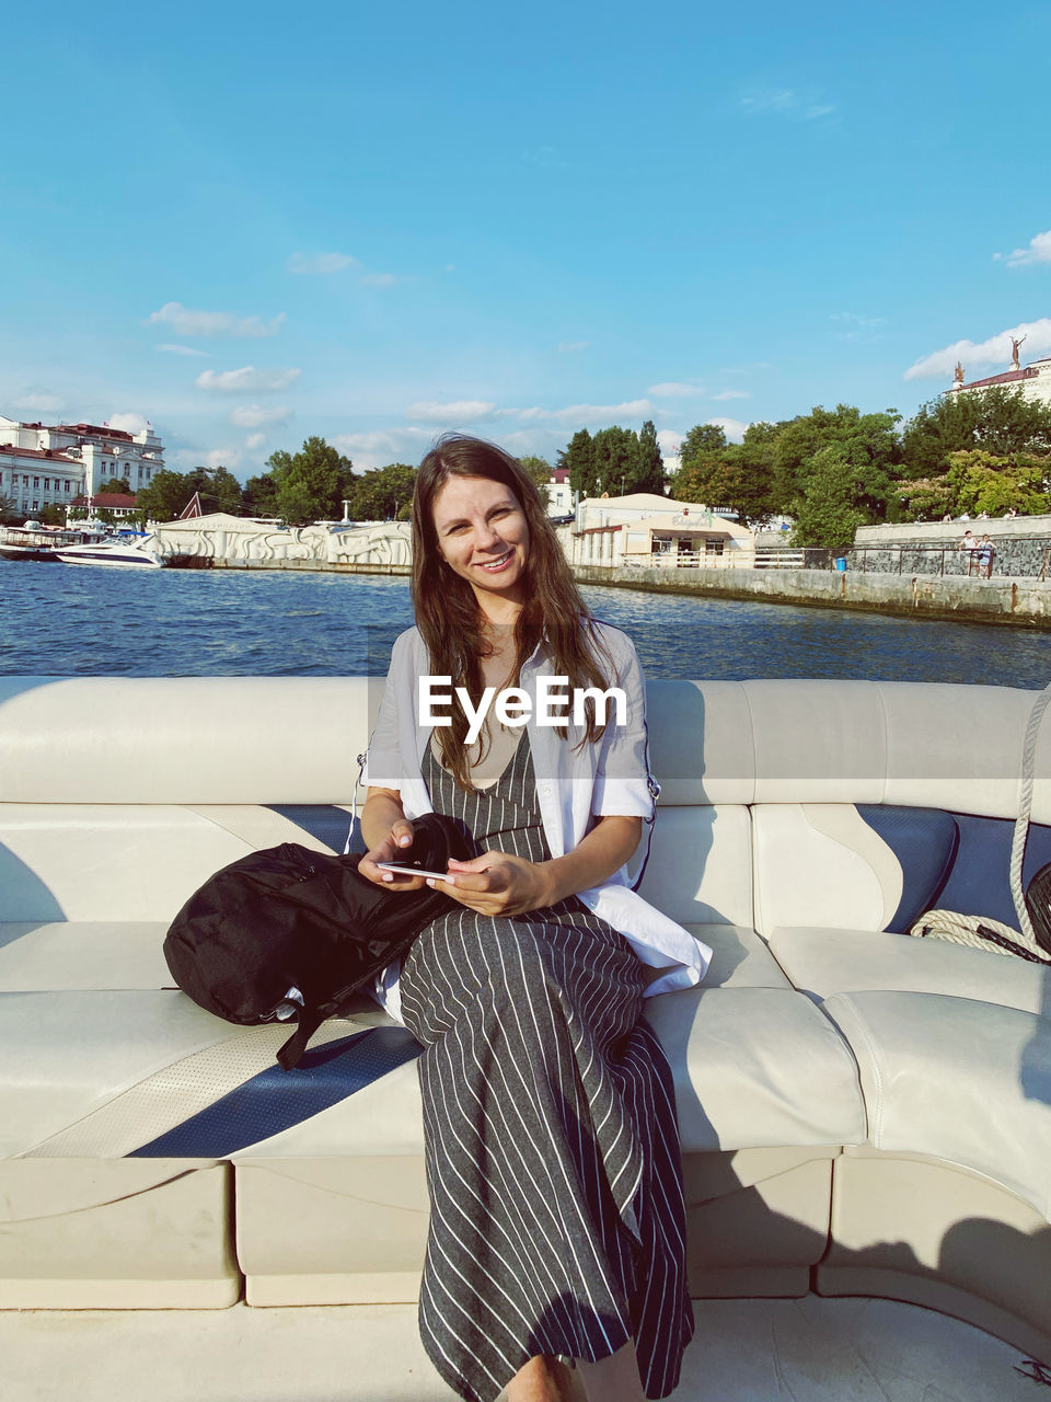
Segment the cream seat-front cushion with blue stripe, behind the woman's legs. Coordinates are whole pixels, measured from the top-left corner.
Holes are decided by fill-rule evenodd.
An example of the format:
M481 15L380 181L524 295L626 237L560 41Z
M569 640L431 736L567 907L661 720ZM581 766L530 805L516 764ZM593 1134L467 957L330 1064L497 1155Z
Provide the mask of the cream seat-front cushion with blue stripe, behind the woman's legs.
M853 1060L804 995L687 990L646 1015L687 1151L865 1140ZM175 991L0 993L0 1157L422 1154L419 1047L404 1028L363 1002L324 1023L293 1073L275 1063L287 1035Z

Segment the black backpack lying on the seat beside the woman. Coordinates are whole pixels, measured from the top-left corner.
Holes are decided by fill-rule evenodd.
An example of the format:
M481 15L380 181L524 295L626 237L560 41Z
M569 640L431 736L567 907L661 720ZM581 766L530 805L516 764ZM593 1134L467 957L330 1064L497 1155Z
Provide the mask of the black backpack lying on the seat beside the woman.
M454 819L427 813L412 827L409 864L444 871L475 852ZM277 1053L286 1071L325 1018L454 904L429 886L383 890L359 876L360 861L298 843L251 852L210 876L164 938L175 983L207 1012L248 1026L296 1018Z

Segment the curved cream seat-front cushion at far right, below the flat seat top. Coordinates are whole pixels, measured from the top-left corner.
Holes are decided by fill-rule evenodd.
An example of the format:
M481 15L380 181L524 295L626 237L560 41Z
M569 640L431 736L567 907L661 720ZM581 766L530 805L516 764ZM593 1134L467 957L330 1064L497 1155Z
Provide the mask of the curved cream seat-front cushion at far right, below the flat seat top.
M1051 1218L1051 1016L932 993L823 1008L858 1059L876 1148L970 1168Z

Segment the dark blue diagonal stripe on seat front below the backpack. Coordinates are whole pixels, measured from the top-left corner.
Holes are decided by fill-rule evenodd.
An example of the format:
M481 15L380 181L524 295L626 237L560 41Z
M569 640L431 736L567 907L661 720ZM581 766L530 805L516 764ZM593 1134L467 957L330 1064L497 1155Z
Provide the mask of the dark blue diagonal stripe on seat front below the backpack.
M339 1037L307 1052L293 1071L275 1063L128 1158L227 1158L338 1105L420 1050L405 1028Z

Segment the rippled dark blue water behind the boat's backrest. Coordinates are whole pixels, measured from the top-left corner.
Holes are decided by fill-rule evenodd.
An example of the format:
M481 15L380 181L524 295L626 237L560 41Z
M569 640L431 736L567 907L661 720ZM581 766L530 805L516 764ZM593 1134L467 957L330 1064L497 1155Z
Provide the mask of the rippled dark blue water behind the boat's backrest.
M1036 628L584 589L650 677L873 677L1043 687ZM0 673L355 676L387 670L406 579L283 571L74 569L0 561Z

